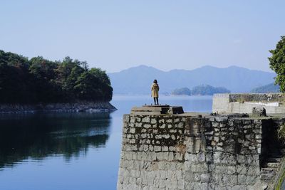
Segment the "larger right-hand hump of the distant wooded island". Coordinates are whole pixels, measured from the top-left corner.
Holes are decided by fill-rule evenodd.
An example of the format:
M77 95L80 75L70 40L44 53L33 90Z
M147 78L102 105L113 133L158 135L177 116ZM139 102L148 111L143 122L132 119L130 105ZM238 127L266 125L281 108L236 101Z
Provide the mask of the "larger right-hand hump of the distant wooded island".
M192 89L192 95L213 95L214 93L230 93L227 88L199 85Z

